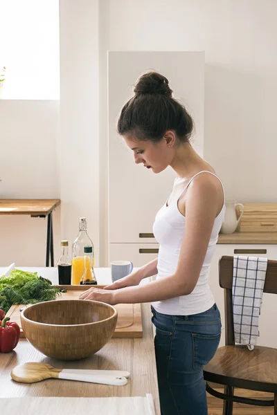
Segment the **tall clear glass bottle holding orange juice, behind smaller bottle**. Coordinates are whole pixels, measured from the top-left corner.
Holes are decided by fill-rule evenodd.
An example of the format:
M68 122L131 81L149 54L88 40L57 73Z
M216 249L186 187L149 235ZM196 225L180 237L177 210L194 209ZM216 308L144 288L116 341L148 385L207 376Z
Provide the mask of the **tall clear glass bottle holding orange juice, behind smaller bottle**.
M91 246L91 261L94 268L94 247L93 242L87 234L87 219L80 218L79 234L72 245L72 285L79 285L84 271L84 246Z

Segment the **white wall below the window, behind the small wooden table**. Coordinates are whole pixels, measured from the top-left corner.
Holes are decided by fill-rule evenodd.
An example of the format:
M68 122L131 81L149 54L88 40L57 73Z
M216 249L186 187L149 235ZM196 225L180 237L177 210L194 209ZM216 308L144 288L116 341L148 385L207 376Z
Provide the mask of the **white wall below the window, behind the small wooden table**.
M59 199L58 101L0 100L0 199ZM44 266L47 221L0 215L0 265ZM60 208L53 212L60 252Z

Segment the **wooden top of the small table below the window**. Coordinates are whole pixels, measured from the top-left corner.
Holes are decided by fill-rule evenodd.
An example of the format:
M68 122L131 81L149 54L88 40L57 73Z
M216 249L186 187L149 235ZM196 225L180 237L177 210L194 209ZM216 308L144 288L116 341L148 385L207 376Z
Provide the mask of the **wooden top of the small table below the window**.
M60 199L0 199L0 214L47 215L60 205Z

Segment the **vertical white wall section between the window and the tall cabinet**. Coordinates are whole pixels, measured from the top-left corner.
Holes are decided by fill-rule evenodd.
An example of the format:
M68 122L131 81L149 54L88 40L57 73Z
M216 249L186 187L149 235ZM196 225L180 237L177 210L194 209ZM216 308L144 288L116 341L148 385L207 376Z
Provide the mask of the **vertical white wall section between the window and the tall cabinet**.
M70 244L80 216L99 266L98 0L60 0L62 238Z

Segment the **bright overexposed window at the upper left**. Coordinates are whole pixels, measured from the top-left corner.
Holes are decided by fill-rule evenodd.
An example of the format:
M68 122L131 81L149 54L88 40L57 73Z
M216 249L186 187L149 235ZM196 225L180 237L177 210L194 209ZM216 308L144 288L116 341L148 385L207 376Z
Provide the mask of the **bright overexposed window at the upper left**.
M60 99L59 0L0 0L1 99Z

